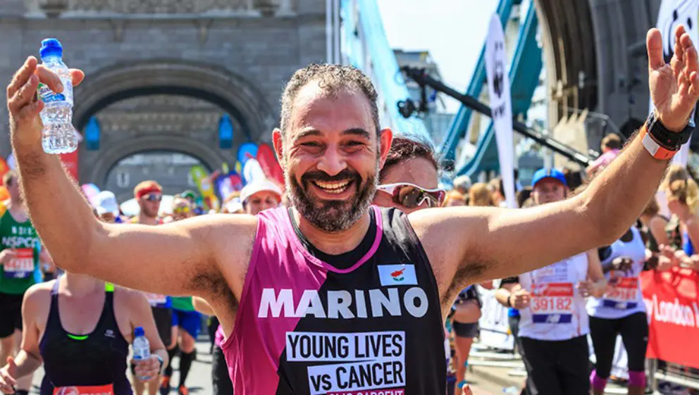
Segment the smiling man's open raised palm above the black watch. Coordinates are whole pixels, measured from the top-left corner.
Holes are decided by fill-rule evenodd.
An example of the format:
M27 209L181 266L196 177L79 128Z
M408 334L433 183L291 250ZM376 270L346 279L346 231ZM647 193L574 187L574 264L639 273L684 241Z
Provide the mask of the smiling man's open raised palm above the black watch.
M699 98L697 51L683 26L675 30L674 55L669 65L662 58L660 30L649 30L646 44L648 84L657 117L667 129L681 132Z

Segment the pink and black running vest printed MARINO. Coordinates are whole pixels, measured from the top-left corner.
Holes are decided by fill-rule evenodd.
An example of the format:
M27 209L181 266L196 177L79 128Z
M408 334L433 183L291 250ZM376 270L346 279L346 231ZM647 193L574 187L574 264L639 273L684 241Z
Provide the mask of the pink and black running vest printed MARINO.
M371 208L361 244L315 249L287 208L259 214L233 333L238 395L445 394L437 283L407 216Z

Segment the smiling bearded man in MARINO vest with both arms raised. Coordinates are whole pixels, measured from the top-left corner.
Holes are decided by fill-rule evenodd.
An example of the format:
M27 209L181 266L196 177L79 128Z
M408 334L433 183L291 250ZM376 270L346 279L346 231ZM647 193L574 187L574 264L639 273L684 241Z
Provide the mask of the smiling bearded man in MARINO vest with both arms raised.
M292 208L256 217L95 220L58 157L42 151L34 92L39 80L62 88L35 58L7 89L11 139L56 265L209 301L236 394L443 394L443 315L459 290L610 244L643 211L691 131L699 93L696 51L682 28L676 39L671 67L660 32L648 34L657 121L586 192L530 210L371 206L392 133L380 128L369 79L339 65L310 65L287 84L273 142Z

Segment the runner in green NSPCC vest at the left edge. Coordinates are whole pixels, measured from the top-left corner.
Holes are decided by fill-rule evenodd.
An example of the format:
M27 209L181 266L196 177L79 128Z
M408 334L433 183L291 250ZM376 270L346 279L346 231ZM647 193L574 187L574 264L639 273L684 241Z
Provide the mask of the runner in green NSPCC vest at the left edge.
M2 180L10 192L10 200L0 202L0 360L4 362L20 351L22 300L40 277L41 242L20 194L17 173L10 170ZM16 393L26 395L31 383L31 375L19 380Z

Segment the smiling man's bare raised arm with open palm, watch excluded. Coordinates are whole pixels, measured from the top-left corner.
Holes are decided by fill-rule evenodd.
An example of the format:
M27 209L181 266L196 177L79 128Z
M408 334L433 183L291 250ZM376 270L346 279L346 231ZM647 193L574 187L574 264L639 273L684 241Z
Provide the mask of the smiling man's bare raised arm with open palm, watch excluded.
M664 64L658 30L648 32L647 44L655 111L662 125L680 132L699 97L699 81L697 52L682 27L676 39L672 67ZM442 266L440 288L452 278L462 287L614 242L643 211L667 164L648 153L637 136L572 199L528 209L428 209L409 218L431 262Z

